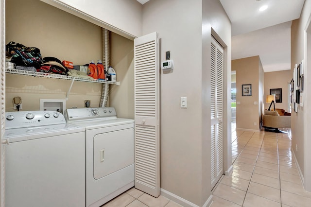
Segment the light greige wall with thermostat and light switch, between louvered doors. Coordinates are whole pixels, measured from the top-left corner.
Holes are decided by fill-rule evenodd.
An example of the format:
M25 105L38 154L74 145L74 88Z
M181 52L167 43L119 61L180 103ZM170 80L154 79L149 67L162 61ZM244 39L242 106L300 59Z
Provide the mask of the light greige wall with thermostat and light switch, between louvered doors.
M160 77L160 186L198 206L211 190L211 28L228 48L225 80L231 83L231 24L219 0L151 0L143 5L143 35L158 32L161 61L166 51L174 60L173 71L161 71ZM180 97L187 97L187 108L180 108Z

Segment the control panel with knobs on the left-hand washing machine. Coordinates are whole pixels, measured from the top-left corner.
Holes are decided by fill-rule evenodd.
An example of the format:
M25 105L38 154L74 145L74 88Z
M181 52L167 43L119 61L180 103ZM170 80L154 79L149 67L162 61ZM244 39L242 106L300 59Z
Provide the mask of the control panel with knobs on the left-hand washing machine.
M66 123L57 111L13 111L6 112L5 117L6 129Z

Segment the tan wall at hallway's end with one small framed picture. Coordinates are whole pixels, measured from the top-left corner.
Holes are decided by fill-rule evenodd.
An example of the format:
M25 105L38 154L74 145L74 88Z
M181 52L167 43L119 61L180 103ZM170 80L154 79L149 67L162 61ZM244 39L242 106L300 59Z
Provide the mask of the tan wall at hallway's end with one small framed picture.
M232 60L237 79L237 129L259 131L259 56ZM262 78L261 78L262 80ZM242 96L242 85L252 85L252 95ZM260 88L262 90L262 88ZM240 102L241 104L238 104ZM258 104L255 105L254 102ZM245 119L247 117L247 119ZM254 122L257 125L254 125Z

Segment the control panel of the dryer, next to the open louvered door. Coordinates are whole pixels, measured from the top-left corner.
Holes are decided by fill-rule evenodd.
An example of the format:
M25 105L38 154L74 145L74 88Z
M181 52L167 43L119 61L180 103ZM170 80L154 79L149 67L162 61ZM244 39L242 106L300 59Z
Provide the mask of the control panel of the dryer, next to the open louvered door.
M115 118L117 118L117 112L114 107L69 108L65 111L67 122Z

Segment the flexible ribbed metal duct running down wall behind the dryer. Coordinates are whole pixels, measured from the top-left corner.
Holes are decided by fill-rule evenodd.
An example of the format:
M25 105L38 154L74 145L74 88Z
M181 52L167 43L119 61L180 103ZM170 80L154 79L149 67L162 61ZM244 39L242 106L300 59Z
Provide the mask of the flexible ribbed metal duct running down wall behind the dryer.
M105 70L110 66L110 31L103 28L103 64ZM106 107L110 84L103 84L100 107Z

